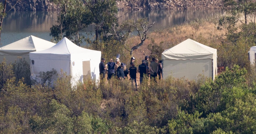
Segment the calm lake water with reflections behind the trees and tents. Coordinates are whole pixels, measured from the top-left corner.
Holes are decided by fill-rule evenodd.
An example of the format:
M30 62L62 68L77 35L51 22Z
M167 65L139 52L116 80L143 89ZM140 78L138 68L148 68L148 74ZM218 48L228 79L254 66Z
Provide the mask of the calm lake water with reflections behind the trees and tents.
M180 25L184 22L192 20L209 18L211 16L221 14L220 10L185 10L185 11L169 11L169 10L144 10L136 12L120 11L118 16L119 23L129 19L148 18L149 22L154 22L152 30L164 29L174 25ZM33 35L44 40L51 40L50 28L55 23L58 12L47 11L19 11L9 12L3 21L3 30L1 33L1 45L5 46L12 42L18 41L27 36ZM86 32L93 31L93 26L88 27Z

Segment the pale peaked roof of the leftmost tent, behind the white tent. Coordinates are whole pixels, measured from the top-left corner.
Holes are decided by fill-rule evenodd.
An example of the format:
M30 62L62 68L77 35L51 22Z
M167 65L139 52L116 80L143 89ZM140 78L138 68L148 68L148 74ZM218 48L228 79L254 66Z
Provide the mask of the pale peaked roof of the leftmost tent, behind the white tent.
M24 55L32 51L41 51L54 46L55 43L35 36L29 36L0 48L7 55Z

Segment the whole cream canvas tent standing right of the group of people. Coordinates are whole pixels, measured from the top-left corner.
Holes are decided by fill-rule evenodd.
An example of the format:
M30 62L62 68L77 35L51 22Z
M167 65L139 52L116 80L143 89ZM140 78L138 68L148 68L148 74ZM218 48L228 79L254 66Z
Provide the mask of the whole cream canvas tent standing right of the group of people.
M217 49L187 39L163 51L163 79L169 76L197 80L199 74L206 77L217 75Z

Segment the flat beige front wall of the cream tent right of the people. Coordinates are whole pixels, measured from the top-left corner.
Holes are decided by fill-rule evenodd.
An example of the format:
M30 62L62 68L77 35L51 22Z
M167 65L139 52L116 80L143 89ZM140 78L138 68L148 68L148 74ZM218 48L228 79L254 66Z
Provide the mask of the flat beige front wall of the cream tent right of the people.
M163 60L163 78L170 75L176 78L185 77L196 80L199 74L212 77L212 59Z

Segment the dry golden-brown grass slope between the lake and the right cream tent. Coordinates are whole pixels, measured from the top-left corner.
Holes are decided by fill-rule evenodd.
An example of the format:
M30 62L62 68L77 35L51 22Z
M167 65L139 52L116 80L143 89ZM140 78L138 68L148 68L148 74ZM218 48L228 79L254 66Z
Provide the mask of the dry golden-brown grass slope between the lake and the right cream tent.
M215 20L218 20L214 18ZM150 55L151 51L147 49L149 44L162 45L166 50L180 42L191 38L205 45L211 42L219 42L219 37L224 38L225 31L219 31L216 28L217 22L208 20L197 20L190 23L184 23L175 27L166 28L159 31L149 33L148 39L143 46L134 50L133 56L137 59L144 59L145 55ZM203 40L202 40L203 39ZM137 36L129 38L128 46L134 46L139 43ZM213 47L213 46L211 46Z

